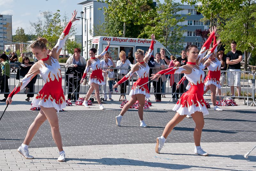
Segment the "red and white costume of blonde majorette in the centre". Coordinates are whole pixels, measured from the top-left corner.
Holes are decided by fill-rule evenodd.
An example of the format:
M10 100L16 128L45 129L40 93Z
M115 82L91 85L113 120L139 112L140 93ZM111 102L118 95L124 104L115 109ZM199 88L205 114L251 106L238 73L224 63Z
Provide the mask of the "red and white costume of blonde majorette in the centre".
M151 41L150 47L148 49L148 53L146 55L146 57L151 56L152 52L153 52L153 48L154 48L154 43L155 41ZM149 89L148 89L148 84L145 84L146 82L148 82L148 78L149 78L149 66L147 63L146 66L144 67L143 64L144 62L140 63L140 68L138 71L130 71L128 72L120 81L117 82L117 84L122 84L124 81L128 80L130 77L132 77L132 75L134 74L134 72L137 73L139 79L132 85L132 90L129 93L130 96L134 95L134 94L144 94L146 96L146 98L150 97L149 94ZM145 85L143 85L145 84ZM139 89L136 89L137 86L142 85Z

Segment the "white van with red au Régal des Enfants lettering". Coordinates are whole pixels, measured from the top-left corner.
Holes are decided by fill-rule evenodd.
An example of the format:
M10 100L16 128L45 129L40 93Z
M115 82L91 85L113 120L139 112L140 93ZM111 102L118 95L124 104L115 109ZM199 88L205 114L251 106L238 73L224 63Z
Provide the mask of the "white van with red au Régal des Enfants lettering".
M137 49L142 49L146 52L151 43L151 39L96 36L92 38L91 48L96 48L97 54L99 54L107 47L107 41L110 41L110 48L108 49L109 56L112 56L114 61L119 60L119 52L121 50L124 50L127 56L129 52L132 52L132 56L134 57ZM154 44L152 55L155 56L157 52L160 52L161 48L164 48L165 55L170 59L170 52L157 40Z

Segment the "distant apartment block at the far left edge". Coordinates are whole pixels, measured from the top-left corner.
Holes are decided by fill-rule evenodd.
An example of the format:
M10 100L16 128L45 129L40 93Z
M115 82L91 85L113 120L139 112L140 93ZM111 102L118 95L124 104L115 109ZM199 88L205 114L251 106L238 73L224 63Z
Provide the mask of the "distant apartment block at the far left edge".
M4 45L12 42L12 16L0 14L0 53L4 52Z

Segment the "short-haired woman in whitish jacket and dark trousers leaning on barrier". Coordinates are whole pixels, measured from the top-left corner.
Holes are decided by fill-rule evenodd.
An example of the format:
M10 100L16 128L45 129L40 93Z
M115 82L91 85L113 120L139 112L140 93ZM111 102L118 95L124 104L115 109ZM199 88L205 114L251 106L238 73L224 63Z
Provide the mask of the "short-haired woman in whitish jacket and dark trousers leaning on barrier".
M80 48L74 49L74 54L70 56L65 64L66 68L76 68L78 65L86 65L86 60L84 59L81 54ZM79 98L79 91L80 91L80 80L82 78L82 74L77 72L76 74L68 74L68 99L70 100L78 100ZM77 88L76 88L77 87ZM71 92L73 92L76 89L75 96L71 95Z

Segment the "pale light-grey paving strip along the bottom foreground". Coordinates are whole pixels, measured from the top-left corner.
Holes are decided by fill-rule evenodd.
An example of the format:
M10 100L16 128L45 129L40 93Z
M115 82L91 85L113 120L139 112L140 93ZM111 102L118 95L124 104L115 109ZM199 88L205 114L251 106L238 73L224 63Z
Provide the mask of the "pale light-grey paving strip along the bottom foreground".
M161 154L155 144L90 145L64 147L67 159L58 162L57 147L30 148L35 157L25 159L13 150L0 150L0 169L43 170L255 170L256 151L248 159L255 142L202 143L209 156L194 153L194 143L166 143Z

